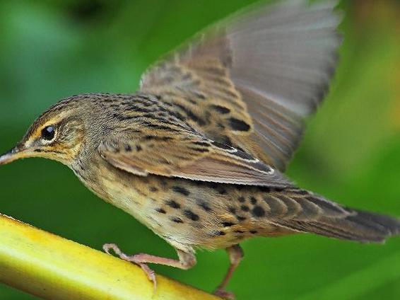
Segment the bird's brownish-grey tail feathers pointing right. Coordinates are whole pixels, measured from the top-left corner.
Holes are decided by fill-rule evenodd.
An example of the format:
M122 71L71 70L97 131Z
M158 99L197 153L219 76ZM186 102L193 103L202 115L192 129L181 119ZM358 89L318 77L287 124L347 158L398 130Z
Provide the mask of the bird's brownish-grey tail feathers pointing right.
M389 236L400 234L400 219L343 207L311 192L300 192L300 197L286 194L285 198L300 204L302 214L290 219L280 218L275 224L293 231L363 243L382 243ZM318 214L307 213L311 208L315 212L315 207L318 207Z

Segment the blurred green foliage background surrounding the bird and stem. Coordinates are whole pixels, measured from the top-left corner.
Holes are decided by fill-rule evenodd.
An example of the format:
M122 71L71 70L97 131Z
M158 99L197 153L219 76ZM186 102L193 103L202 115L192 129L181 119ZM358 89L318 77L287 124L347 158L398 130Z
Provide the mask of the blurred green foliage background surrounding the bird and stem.
M160 54L252 0L0 2L0 151L49 105L77 93L135 91ZM348 206L400 216L400 4L348 0L341 64L288 174ZM101 249L175 257L128 214L44 159L0 168L0 212ZM1 234L1 233L0 233ZM400 238L360 245L311 235L256 238L230 284L237 299L400 299ZM213 290L228 258L198 254L163 275ZM83 266L84 267L84 266ZM0 285L0 299L33 299Z

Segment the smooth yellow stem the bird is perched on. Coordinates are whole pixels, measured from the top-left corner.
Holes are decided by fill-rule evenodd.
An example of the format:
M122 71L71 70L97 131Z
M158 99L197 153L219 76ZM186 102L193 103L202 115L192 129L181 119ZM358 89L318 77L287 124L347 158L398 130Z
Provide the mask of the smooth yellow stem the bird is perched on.
M218 300L140 267L0 214L0 281L42 299Z

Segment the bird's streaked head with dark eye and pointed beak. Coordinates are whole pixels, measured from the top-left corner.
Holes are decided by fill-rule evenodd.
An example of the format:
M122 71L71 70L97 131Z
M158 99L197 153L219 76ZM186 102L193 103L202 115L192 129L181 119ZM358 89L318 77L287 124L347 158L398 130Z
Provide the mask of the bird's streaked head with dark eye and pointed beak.
M19 158L43 157L71 166L84 142L82 108L76 100L61 100L33 122L18 144L0 156L0 165Z

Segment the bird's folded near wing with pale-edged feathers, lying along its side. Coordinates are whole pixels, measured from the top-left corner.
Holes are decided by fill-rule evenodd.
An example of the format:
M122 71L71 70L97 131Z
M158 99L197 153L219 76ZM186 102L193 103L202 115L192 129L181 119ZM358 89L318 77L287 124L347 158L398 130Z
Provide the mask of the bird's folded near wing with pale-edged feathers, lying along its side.
M142 176L154 174L277 188L292 185L278 170L243 151L195 132L153 125L151 134L137 127L113 134L101 142L100 155L113 166Z

